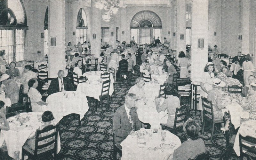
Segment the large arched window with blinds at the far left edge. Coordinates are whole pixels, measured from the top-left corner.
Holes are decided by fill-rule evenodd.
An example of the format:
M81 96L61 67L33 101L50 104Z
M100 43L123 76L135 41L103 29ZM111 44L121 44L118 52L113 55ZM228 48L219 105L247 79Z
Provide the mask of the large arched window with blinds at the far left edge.
M27 16L21 0L0 1L0 50L6 61L21 61L27 54Z

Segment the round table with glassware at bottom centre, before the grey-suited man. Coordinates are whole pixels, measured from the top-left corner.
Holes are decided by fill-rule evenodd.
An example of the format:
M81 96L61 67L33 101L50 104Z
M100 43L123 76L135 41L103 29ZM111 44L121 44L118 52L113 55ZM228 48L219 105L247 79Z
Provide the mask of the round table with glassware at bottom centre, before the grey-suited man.
M166 137L162 141L161 131L153 132L153 129L141 129L136 134L142 133L144 144L141 146L138 137L128 135L120 144L122 146L121 160L167 160L173 158L173 152L180 145L180 138L170 131L164 130ZM140 147L139 147L140 146Z

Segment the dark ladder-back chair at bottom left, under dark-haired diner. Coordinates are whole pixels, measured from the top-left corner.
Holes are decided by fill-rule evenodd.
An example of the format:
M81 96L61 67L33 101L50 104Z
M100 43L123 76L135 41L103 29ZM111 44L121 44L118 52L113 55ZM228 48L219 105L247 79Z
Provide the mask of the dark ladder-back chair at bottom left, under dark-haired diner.
M54 130L52 134L47 136L39 137L42 133L47 133ZM57 140L58 140L58 129L56 126L49 125L44 127L44 129L36 130L36 141L35 149L32 149L27 143L22 147L22 160L24 160L24 155L28 155L29 158L38 159L38 157L45 157L46 155L54 154L54 159L57 159ZM44 142L46 141L46 143ZM43 144L40 144L43 142Z

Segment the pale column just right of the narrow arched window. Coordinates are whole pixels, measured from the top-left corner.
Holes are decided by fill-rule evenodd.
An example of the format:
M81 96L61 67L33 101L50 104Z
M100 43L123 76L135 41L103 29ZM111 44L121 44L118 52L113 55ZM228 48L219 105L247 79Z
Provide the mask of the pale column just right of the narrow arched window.
M91 14L91 51L95 57L100 56L100 34L101 34L101 11L100 9L94 6L96 0L92 0L92 14ZM96 35L96 38L93 38L93 35Z

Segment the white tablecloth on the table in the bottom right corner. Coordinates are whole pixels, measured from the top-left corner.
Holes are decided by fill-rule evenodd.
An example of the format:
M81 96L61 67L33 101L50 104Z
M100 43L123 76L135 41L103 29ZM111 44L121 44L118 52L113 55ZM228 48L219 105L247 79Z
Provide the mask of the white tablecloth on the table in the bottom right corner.
M233 119L232 119L232 122L233 122ZM246 121L246 122L242 123L240 128L238 129L238 132L236 134L234 147L233 147L237 156L240 156L239 136L238 136L239 134L241 134L244 137L245 136L251 136L251 137L256 138L256 120ZM253 144L253 146L254 145L255 144Z

